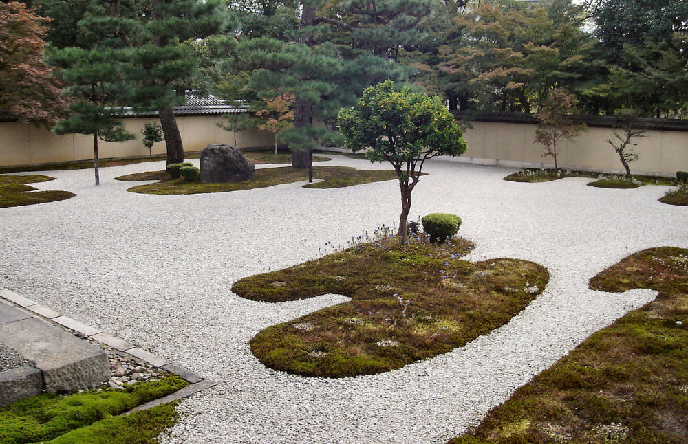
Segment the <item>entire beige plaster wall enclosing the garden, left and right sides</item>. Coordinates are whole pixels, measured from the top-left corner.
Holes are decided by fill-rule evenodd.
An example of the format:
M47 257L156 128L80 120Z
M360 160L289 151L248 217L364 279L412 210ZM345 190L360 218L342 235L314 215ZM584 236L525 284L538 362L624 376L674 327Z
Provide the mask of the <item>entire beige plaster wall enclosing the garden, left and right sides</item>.
M216 115L181 116L177 122L186 151L200 151L208 144L235 144L234 134L217 126L222 117ZM146 122L155 118L125 119L125 126L136 135L127 142L98 143L99 155L107 157L144 156L148 151L141 142L140 131ZM630 164L633 173L670 175L676 170L688 170L688 132L647 131L647 137L637 139L640 159ZM613 148L606 142L613 137L610 128L589 127L572 141L563 140L559 146L559 166L562 168L621 172L623 167ZM541 157L544 148L533 143L535 125L495 122L473 122L464 133L469 148L460 158L464 162L491 165L548 167L551 157ZM239 131L237 146L241 148L272 146L274 136L267 131ZM153 154L164 154L164 142L153 146ZM45 162L65 162L93 158L93 141L88 135L51 135L42 127L17 122L0 122L0 166L28 165Z

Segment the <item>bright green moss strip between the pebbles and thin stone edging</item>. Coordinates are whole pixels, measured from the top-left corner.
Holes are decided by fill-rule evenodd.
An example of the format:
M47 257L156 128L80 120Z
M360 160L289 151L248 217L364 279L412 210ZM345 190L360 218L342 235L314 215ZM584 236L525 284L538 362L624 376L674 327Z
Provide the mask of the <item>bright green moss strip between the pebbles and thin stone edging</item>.
M134 384L125 390L106 388L98 391L94 389L66 396L43 393L26 398L0 408L0 443L23 444L56 439L72 430L83 428L96 421L127 412L142 403L169 395L187 385L189 383L177 375L169 375L158 381ZM169 412L165 415L169 417ZM98 428L92 430L98 430ZM75 433L74 436L85 436L80 432ZM136 432L131 434L136 434ZM70 441L63 438L58 442L74 443L78 440ZM95 441L85 439L82 442ZM129 441L120 442L128 443Z

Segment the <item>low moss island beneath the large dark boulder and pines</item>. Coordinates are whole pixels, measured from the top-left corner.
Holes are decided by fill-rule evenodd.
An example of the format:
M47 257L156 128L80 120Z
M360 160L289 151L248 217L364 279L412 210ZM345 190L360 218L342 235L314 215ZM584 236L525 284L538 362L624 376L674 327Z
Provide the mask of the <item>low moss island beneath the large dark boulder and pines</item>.
M186 182L184 179L170 179L164 171L138 173L120 176L119 180L151 180L151 177L166 177L156 184L139 185L129 188L131 192L141 192L153 195L193 195L204 192L227 192L264 188L266 186L290 184L308 180L308 170L282 166L279 168L261 168L255 170L250 181L233 182L228 184L203 184L201 182ZM356 170L345 166L316 166L313 168L314 179L323 179L323 183L307 184L304 188L341 188L369 182L396 179L394 171Z

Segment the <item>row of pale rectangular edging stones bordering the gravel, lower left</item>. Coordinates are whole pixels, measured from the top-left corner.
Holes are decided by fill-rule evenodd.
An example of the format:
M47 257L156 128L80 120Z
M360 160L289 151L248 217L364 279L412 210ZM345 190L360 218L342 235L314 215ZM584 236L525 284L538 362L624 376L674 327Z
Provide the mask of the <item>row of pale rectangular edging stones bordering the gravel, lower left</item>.
M178 364L170 362L168 359L164 359L163 357L155 355L154 353L144 350L143 348L130 344L129 342L126 342L125 340L122 340L119 337L109 335L108 333L105 333L100 329L96 329L93 326L83 324L82 322L78 322L77 320L73 320L72 318L67 318L67 316L60 315L60 313L57 313L56 311L48 307L45 307L39 304L38 302L34 302L33 300L30 300L28 298L25 298L24 296L14 293L14 291L10 291L8 289L0 289L0 297L2 297L5 300L8 300L9 302L12 302L12 304L17 304L19 305L19 307L31 311L32 313L34 313L34 315L39 315L41 316L41 318L45 318L49 321L55 322L56 324L65 326L67 327L67 329L76 331L87 337L91 337L94 340L100 342L101 344L105 344L107 346L115 348L118 351L129 353L129 355L137 357L138 359L142 359L145 362L148 362L149 364L151 364L151 366L162 368L162 370L165 370L169 373L175 373L192 386L200 383L201 381L204 381L205 379L205 377L198 375L197 373L189 370L188 368L184 368ZM217 383L213 383L213 385L215 384ZM203 390L203 388L199 388L198 390ZM191 395L191 393L195 392L191 390L189 391L190 392L188 395L184 395L182 397L189 396Z

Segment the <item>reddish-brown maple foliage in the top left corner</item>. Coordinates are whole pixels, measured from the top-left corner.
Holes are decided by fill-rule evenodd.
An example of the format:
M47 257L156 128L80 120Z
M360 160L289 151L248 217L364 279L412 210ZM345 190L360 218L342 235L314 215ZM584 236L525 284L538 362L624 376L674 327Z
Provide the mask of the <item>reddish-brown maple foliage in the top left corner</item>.
M55 122L67 107L43 62L44 21L24 3L0 3L0 109L20 122Z

